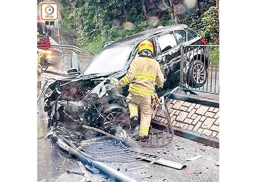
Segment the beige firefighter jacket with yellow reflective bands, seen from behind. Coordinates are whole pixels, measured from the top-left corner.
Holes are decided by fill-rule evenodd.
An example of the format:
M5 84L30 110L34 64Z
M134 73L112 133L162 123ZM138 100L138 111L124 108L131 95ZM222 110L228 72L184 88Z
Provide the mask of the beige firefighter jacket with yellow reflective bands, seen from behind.
M121 86L129 84L129 92L141 97L151 97L155 85L163 87L164 75L159 63L150 57L132 60L127 74L119 81Z

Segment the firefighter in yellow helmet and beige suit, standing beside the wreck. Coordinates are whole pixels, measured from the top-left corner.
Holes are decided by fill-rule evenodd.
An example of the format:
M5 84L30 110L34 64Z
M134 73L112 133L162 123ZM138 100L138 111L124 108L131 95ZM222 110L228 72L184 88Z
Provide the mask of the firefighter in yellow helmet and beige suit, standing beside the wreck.
M127 103L131 120L138 122L138 107L140 107L140 131L137 141L145 142L153 114L153 98L155 85L163 87L164 75L159 63L153 59L153 44L144 40L139 44L139 57L132 60L127 74L116 83L116 87L129 84Z

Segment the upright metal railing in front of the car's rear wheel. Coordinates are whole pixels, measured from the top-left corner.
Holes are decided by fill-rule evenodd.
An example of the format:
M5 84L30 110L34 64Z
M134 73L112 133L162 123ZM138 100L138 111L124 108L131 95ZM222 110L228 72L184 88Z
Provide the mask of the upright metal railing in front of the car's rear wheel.
M219 46L182 46L180 70L180 87L219 95Z

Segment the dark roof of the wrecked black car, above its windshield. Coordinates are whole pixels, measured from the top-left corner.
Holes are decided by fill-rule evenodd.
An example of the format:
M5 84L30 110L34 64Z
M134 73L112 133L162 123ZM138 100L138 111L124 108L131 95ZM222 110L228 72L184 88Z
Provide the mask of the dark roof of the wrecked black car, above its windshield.
M123 38L120 41L114 42L114 43L106 46L106 49L115 48L115 47L124 47L124 46L135 46L135 44L137 44L138 42L143 41L152 35L169 32L169 31L174 31L174 30L179 30L179 29L187 28L187 27L188 26L185 24L179 24L179 25L164 26L162 28L154 28L154 29L146 30L146 31L143 31L140 33L136 33L127 38Z

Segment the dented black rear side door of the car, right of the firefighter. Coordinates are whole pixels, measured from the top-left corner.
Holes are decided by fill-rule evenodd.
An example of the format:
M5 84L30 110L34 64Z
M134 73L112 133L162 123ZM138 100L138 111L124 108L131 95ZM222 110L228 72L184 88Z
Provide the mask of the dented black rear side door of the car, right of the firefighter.
M155 59L161 64L166 79L164 88L176 87L179 85L180 47L186 40L186 33L170 31L157 35L155 39L158 51Z

